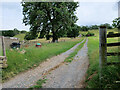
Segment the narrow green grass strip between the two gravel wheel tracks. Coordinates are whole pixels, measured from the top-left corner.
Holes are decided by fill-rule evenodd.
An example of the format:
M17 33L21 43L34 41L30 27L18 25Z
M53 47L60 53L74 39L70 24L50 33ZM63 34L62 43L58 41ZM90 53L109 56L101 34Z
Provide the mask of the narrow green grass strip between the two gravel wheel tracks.
M86 40L85 40L86 41ZM74 56L78 53L78 51L84 46L84 43L81 43L75 50L74 52L72 52L66 59L65 59L65 62L72 62Z

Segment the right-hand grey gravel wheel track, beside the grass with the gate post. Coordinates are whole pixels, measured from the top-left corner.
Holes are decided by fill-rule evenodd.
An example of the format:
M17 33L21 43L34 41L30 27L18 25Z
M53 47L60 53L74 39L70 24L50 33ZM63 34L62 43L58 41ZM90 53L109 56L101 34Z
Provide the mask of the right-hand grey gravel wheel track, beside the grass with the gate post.
M71 63L64 63L46 75L43 88L84 88L85 74L89 65L87 42Z

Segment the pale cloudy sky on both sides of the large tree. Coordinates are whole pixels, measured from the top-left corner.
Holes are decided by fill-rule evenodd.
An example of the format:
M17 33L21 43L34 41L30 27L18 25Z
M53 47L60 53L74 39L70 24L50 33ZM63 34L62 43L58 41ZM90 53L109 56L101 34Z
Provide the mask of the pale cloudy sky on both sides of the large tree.
M112 24L118 17L117 2L79 2L78 25ZM0 2L0 30L29 30L23 23L22 6L18 2Z

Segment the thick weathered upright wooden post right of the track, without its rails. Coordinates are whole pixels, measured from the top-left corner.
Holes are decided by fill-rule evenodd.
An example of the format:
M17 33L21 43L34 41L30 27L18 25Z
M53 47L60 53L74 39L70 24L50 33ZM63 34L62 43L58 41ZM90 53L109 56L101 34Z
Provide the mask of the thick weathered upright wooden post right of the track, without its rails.
M102 70L103 67L107 63L107 34L106 34L106 26L100 26L99 28L99 79L100 79L100 86L102 87Z

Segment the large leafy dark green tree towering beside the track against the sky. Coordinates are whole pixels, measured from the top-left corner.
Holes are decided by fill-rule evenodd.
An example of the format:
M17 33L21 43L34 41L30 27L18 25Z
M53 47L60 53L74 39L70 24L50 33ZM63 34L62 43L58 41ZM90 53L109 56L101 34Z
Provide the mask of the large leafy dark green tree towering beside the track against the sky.
M60 37L59 33L69 30L77 21L75 15L77 2L23 2L23 22L30 25L30 33L37 37L52 33L53 42Z

